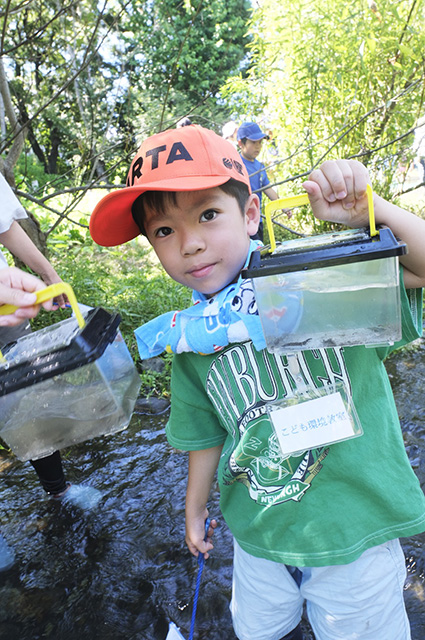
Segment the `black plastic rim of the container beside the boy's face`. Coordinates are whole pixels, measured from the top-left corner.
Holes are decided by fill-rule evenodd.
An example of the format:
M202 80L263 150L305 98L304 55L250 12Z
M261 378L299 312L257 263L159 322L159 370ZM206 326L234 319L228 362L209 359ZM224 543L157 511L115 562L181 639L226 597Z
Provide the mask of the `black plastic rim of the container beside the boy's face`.
M342 241L325 248L309 247L263 256L264 248L261 247L252 252L248 266L242 271L242 278L262 278L279 273L391 258L407 253L407 245L397 240L391 229L378 227L378 230L379 236Z

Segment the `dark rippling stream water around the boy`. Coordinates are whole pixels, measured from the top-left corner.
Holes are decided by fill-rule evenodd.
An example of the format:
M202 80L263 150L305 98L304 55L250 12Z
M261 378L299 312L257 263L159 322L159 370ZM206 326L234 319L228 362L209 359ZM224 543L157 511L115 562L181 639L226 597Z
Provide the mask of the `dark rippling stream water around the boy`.
M407 451L425 485L425 344L388 360ZM0 527L16 554L0 573L0 640L189 638L197 565L184 543L187 456L165 439L167 414L135 414L121 433L64 455L68 479L101 488L90 512L46 499L29 463L0 455ZM196 616L198 640L235 640L228 602L232 540L218 516ZM425 638L425 535L402 541L413 640ZM306 640L313 638L303 622ZM376 640L385 640L379 639Z

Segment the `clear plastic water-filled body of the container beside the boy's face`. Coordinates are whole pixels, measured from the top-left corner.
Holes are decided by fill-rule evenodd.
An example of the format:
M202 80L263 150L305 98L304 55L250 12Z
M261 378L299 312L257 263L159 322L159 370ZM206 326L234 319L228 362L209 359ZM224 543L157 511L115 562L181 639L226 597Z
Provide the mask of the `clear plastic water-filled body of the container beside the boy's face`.
M401 337L397 258L253 282L271 352L393 344Z

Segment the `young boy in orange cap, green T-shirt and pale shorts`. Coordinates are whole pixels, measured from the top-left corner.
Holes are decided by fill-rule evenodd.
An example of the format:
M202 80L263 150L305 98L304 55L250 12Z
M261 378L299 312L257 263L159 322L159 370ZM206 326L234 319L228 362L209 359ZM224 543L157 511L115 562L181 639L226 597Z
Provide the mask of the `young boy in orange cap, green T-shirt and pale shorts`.
M368 224L367 182L360 163L334 161L304 188L318 218L360 227ZM422 327L425 221L377 195L374 205L376 222L409 247L400 258L405 344ZM104 246L146 235L169 275L194 290L193 307L136 331L142 357L177 354L167 437L190 452L188 547L205 557L213 547L214 520L203 537L218 467L240 640L299 640L304 602L317 640L407 640L398 537L425 530L425 498L383 365L391 349L268 353L250 282L240 277L258 222L258 197L236 151L198 126L147 139L128 186L103 198L90 221ZM265 405L336 382L351 395L363 435L284 456Z

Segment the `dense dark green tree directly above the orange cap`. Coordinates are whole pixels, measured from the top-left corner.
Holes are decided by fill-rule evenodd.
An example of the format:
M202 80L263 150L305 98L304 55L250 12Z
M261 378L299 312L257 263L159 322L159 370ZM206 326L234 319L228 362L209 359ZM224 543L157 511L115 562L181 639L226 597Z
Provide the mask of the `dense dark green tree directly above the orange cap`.
M250 14L248 0L163 0L146 2L143 11L138 2L127 6L118 46L139 130L162 130L193 113L195 122L214 128L225 117L219 89L247 66Z

